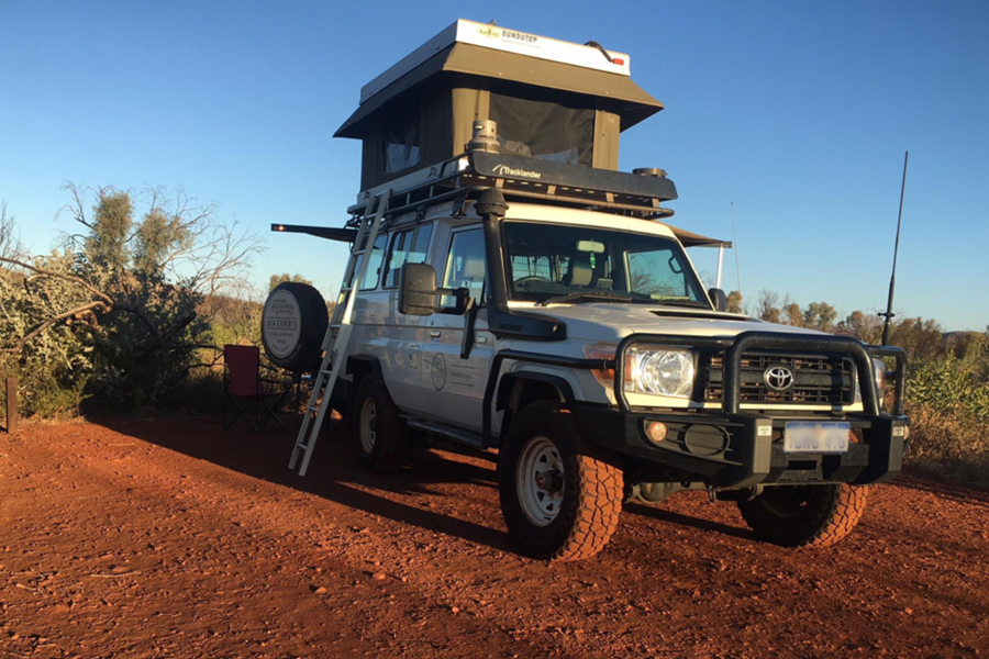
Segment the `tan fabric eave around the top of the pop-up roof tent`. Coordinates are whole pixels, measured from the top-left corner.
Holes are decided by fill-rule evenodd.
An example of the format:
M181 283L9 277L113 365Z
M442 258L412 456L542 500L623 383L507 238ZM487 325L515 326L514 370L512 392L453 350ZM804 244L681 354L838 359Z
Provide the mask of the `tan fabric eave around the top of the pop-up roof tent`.
M333 136L360 139L365 133L365 120L403 91L443 72L509 80L597 97L601 100L599 103L601 110L621 116L622 131L663 110L663 103L646 93L627 76L456 43L370 97Z

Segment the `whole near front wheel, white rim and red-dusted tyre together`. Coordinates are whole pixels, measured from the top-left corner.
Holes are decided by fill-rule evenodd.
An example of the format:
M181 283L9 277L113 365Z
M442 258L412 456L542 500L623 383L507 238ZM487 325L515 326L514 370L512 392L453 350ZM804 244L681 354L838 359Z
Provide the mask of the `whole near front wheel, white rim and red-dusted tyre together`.
M504 522L534 558L578 560L603 549L618 527L622 484L621 470L555 401L522 410L498 456Z

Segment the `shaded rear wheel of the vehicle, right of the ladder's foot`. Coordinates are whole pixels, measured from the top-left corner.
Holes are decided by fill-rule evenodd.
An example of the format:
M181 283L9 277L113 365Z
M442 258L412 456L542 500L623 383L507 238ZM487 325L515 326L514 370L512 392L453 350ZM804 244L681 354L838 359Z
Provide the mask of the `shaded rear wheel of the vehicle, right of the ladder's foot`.
M360 380L354 396L354 418L360 466L379 472L401 469L409 431L384 382L371 377Z

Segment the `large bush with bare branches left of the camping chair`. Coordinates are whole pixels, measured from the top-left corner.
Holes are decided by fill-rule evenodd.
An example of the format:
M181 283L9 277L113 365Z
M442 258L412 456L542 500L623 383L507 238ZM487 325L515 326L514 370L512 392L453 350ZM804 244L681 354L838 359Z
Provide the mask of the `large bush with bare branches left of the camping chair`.
M25 254L0 212L0 357L21 378L24 415L176 404L201 346L251 332L253 308L229 331L205 308L243 287L257 241L181 192L147 190L138 213L129 191L67 189L85 228L51 255Z

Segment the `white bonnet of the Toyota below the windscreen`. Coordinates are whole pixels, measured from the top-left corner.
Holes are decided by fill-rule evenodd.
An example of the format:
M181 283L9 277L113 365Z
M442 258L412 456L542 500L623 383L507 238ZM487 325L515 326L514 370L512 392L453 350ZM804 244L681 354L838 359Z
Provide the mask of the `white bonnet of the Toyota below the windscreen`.
M753 331L822 334L813 330L765 323L732 313L652 304L558 304L535 306L524 311L559 319L567 324L567 338L589 342L618 343L630 334L735 336L742 332Z

